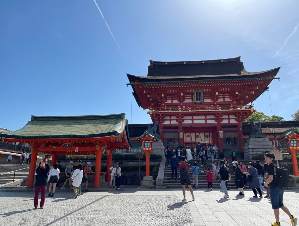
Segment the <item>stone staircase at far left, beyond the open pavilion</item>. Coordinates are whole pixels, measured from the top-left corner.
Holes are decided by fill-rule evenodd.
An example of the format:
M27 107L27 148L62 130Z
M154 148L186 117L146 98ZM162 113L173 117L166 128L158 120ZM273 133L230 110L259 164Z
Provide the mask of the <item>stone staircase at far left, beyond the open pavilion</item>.
M29 166L29 164L23 166L19 164L0 164L0 186L2 187L4 184L12 182L14 175L14 181L28 177Z

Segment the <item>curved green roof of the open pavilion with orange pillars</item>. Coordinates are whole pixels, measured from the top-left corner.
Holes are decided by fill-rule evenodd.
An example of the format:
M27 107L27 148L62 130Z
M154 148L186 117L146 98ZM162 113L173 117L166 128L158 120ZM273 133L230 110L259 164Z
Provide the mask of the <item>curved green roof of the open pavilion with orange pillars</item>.
M45 138L99 138L119 136L128 133L125 114L87 116L31 116L22 129L0 133L3 138L45 139Z

